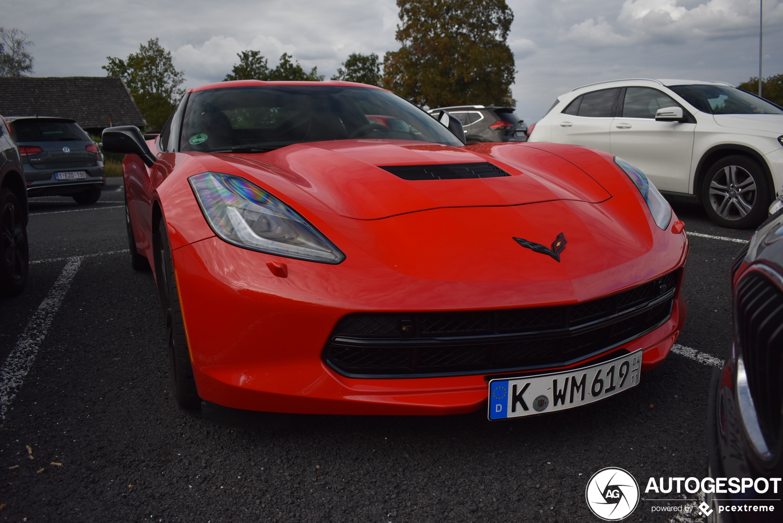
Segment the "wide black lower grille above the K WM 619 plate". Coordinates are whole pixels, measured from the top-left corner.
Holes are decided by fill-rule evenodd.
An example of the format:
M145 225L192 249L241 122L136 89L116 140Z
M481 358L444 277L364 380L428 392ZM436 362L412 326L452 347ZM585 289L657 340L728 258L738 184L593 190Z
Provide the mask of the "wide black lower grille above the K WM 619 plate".
M579 360L638 338L672 313L679 271L573 306L343 317L324 360L367 377L480 374Z

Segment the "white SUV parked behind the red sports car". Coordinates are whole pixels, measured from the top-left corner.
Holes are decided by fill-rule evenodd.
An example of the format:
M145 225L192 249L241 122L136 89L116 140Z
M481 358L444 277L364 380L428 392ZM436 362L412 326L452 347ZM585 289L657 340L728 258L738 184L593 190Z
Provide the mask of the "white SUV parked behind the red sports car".
M630 79L561 95L530 142L594 147L723 227L756 227L783 185L783 109L723 82Z

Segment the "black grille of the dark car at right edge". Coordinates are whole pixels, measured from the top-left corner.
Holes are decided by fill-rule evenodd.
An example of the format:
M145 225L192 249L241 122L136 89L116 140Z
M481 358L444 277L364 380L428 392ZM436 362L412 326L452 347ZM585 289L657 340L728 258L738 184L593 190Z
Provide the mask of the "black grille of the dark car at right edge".
M759 271L737 285L736 324L756 416L767 446L781 438L783 407L783 292Z

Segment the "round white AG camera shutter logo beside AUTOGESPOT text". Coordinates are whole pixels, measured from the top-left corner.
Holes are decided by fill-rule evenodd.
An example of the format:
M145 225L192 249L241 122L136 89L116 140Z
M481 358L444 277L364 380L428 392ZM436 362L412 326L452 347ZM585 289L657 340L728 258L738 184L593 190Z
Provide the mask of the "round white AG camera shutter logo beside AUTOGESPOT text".
M604 521L627 518L639 504L639 484L628 471L606 467L587 482L585 500L593 514Z

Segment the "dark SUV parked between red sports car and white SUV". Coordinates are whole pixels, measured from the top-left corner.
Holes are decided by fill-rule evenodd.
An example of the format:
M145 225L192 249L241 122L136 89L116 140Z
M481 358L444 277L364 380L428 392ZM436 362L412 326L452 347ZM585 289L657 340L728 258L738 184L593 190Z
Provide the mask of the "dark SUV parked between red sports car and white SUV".
M438 107L428 112L437 115L448 111L462 122L465 140L476 141L528 141L525 120L514 114L513 107L454 106Z

